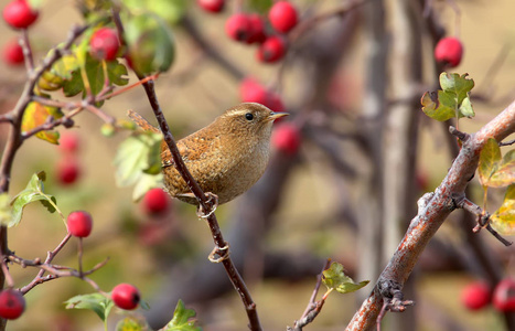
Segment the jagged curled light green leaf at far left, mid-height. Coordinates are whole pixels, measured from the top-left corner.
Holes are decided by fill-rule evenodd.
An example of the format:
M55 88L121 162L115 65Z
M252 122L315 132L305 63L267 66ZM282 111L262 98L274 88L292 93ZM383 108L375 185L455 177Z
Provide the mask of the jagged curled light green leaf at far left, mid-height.
M18 225L21 221L23 209L31 202L41 201L41 203L49 210L49 212L55 212L55 207L50 201L56 204L54 196L44 193L43 181L45 181L46 174L44 171L37 172L32 175L25 190L21 191L11 201L12 205L12 218L9 223L3 224L8 227Z

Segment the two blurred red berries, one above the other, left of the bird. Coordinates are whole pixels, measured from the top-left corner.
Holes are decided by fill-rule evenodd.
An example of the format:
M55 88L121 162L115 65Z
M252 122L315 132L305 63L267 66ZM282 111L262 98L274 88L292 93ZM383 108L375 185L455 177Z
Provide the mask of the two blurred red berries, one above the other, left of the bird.
M81 162L78 161L79 149L78 136L71 131L65 131L60 138L60 151L62 158L57 161L56 177L62 185L75 183L81 177Z

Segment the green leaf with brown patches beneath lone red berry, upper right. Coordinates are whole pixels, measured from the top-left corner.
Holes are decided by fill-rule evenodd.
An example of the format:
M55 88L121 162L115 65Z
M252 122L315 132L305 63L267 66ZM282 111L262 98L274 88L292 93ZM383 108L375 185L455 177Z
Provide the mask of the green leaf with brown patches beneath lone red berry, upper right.
M427 92L423 94L421 104L422 111L440 121L453 117L473 117L469 94L474 87L474 81L468 78L468 74L440 74L440 86L438 92Z

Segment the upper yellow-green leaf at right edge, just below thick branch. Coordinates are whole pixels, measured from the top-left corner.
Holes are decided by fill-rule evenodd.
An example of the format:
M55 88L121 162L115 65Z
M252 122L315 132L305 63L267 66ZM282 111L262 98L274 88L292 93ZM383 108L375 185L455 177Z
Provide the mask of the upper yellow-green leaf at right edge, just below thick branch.
M480 153L478 172L483 186L503 188L512 184L515 182L515 150L502 158L497 141L489 138Z

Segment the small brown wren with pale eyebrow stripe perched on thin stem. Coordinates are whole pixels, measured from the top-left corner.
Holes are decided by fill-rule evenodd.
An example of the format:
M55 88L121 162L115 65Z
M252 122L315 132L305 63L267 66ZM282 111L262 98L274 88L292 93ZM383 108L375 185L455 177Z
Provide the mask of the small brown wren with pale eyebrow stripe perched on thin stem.
M204 192L226 203L254 185L265 172L270 150L273 120L287 116L267 107L245 103L227 109L211 125L178 141L179 152ZM142 129L160 130L139 114L129 117ZM167 143L161 143L164 185L170 195L199 205L181 174L176 171Z

